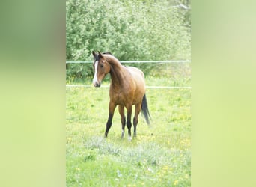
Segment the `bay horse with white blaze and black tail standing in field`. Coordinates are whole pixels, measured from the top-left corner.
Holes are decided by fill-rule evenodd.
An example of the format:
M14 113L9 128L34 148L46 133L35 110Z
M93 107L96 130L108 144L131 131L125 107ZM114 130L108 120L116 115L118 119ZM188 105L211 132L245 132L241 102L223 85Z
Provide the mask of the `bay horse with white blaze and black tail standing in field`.
M106 123L105 138L108 136L109 129L112 126L112 118L116 106L121 115L122 134L124 138L124 129L127 124L128 140L132 140L131 135L131 117L132 105L135 105L135 116L133 118L133 137L136 137L138 114L142 111L142 116L150 125L150 113L147 107L146 88L144 82L144 73L136 67L126 67L121 65L118 58L115 58L110 52L95 53L94 55L94 87L100 87L106 74L110 73L111 83L109 87L109 118ZM127 108L127 120L124 115L124 107Z

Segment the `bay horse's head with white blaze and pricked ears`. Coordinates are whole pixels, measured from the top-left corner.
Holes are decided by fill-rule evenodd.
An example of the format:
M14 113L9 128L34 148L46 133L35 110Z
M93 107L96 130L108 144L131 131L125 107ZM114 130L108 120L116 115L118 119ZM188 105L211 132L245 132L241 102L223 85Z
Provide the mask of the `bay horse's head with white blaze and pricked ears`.
M109 53L106 53L109 54ZM110 71L110 65L106 61L106 58L98 51L98 54L94 51L92 52L92 55L94 55L94 79L93 84L95 87L100 87L100 84L106 74Z

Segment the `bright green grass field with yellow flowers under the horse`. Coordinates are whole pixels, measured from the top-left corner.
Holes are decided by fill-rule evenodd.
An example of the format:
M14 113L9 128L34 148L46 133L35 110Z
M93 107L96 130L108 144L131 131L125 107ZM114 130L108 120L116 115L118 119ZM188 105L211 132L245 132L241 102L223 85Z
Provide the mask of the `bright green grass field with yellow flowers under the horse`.
M147 85L170 85L168 80L146 77ZM140 115L132 141L127 128L121 139L118 108L103 138L109 88L66 88L66 99L67 186L190 186L190 89L147 89L151 126Z

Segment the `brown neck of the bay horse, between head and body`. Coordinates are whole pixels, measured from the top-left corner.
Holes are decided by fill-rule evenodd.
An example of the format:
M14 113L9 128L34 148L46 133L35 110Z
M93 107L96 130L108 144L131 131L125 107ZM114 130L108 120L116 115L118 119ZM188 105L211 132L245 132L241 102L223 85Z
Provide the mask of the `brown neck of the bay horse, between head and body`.
M117 58L109 56L108 62L110 64L110 76L112 79L112 85L114 87L120 87L124 84L124 79L127 72Z

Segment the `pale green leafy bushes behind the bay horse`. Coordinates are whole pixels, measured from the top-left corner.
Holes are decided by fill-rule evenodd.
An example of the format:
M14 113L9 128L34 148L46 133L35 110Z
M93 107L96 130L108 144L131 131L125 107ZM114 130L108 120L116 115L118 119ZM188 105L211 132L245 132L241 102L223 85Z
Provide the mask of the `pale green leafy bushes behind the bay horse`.
M190 60L190 17L190 0L66 1L66 61L92 61L92 50L112 52L120 61ZM132 66L146 76L167 70L158 64ZM66 69L67 80L93 76L92 64Z

